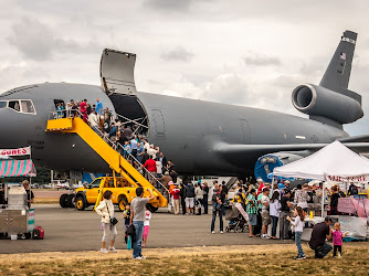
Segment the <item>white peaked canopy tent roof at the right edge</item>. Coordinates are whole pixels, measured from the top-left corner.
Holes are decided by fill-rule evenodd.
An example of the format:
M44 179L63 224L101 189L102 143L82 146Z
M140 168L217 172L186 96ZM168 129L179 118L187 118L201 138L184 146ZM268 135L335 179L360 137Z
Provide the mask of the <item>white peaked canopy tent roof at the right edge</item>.
M275 168L273 174L328 182L369 182L369 160L334 141L306 158Z

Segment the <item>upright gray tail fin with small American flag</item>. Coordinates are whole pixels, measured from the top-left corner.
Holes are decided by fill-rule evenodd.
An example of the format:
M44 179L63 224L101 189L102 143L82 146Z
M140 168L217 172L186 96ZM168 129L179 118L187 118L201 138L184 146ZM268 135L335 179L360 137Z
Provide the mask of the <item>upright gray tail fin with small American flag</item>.
M344 32L327 71L320 81L320 86L331 91L348 88L357 36L358 34L355 32Z

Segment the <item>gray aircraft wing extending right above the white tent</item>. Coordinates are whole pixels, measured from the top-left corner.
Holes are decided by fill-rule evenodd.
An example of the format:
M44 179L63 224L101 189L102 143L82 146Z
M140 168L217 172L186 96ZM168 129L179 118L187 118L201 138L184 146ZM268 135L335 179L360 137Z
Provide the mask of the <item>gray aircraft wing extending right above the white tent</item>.
M342 142L346 147L354 150L357 153L368 153L369 142ZM328 144L289 144L289 145L231 145L219 144L217 151L220 155L266 155L280 151L302 151L310 150L316 151L327 146Z

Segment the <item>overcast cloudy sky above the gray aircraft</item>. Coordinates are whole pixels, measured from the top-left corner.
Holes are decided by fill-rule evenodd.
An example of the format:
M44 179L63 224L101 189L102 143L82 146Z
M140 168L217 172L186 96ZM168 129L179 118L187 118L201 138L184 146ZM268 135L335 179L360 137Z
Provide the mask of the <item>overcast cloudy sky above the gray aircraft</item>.
M299 84L318 84L345 30L358 32L349 88L369 134L368 0L0 0L0 91L99 85L104 47L137 54L139 91L298 116Z

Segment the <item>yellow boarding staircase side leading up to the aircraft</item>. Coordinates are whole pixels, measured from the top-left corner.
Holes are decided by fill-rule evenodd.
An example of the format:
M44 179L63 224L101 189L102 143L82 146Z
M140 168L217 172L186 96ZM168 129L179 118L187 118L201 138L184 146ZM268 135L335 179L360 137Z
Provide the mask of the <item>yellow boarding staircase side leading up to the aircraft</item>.
M141 173L139 173L119 152L113 149L98 134L96 134L83 119L75 118L57 118L49 119L46 131L77 134L93 150L96 151L116 172L124 177L130 184L150 188L155 194L159 197L160 206L167 206L167 199L150 183ZM102 200L102 193L97 198L96 204Z

